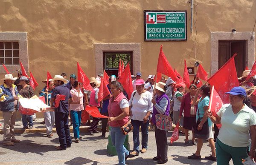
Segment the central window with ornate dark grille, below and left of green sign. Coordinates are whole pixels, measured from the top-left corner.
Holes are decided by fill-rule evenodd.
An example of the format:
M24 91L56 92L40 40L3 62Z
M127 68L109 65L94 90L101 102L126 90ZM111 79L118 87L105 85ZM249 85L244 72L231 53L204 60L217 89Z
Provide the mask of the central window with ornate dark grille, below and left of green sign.
M124 62L126 66L128 63L130 64L131 73L132 72L132 51L121 51L121 52L103 52L103 60L104 60L104 69L110 74L117 75L119 60Z

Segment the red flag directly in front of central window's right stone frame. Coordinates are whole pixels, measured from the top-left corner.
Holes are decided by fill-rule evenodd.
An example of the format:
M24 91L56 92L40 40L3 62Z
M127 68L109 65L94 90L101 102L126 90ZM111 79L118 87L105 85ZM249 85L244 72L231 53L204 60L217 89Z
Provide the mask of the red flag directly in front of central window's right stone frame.
M128 97L131 98L131 93L133 92L133 85L131 81L131 71L129 63L125 67L125 71L118 80L124 87Z

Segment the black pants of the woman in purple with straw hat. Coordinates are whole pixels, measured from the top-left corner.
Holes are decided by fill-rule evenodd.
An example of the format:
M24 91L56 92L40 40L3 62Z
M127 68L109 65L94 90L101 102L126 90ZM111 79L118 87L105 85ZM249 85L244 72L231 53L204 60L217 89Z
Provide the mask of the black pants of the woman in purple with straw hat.
M160 157L161 160L165 161L168 159L167 131L157 129L157 126L155 125L155 137L157 142L157 157Z

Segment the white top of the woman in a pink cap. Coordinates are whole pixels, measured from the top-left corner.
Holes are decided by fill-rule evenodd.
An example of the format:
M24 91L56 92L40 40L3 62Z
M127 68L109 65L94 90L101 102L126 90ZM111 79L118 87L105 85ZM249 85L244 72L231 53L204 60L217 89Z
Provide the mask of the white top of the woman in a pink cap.
M134 95L134 92L136 94ZM134 97L133 97L134 95ZM143 121L148 111L153 112L152 94L149 91L145 91L142 94L138 94L137 91L133 91L129 105L131 107L132 116L131 119Z

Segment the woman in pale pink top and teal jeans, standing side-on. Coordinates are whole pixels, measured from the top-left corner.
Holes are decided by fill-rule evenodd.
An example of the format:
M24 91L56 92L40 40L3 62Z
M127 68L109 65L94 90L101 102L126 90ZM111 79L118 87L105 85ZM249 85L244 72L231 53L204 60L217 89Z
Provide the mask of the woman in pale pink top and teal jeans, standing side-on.
M80 138L79 127L81 123L81 114L82 114L82 110L84 110L84 105L83 105L84 94L79 89L79 83L77 80L75 81L73 88L70 90L70 94L73 97L73 102L71 102L70 104L70 114L73 121L75 142L78 143Z

